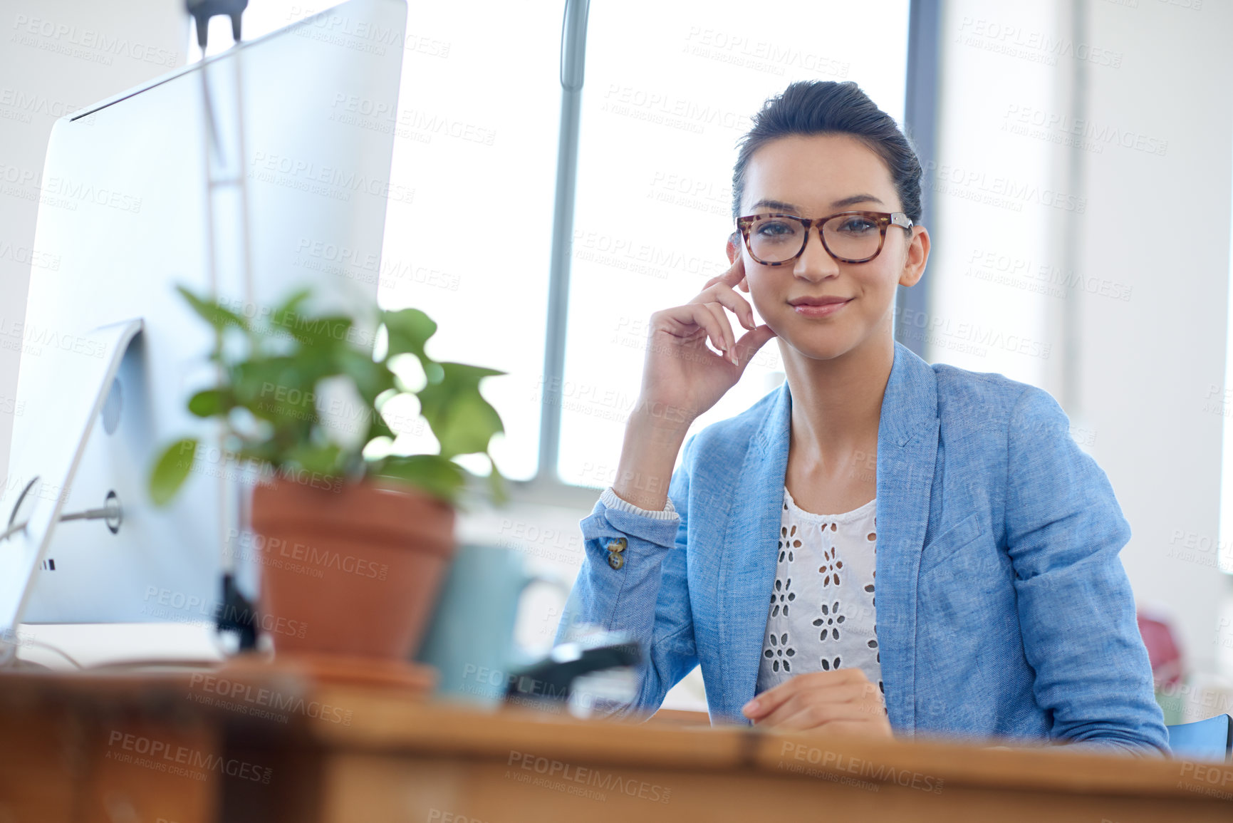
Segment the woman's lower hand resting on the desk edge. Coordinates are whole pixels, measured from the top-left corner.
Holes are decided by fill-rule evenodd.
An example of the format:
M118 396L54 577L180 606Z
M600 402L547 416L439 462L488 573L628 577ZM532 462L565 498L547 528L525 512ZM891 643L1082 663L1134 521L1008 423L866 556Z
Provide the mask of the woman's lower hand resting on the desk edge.
M782 730L891 737L882 692L861 669L811 671L768 689L741 708L757 726Z

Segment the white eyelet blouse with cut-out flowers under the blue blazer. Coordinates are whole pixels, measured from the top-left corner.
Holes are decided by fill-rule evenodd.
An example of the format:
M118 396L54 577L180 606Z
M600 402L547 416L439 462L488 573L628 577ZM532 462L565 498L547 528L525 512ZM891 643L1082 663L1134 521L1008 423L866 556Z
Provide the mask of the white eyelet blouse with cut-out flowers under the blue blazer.
M814 515L784 487L758 693L793 675L840 668L862 669L885 693L873 603L877 503Z

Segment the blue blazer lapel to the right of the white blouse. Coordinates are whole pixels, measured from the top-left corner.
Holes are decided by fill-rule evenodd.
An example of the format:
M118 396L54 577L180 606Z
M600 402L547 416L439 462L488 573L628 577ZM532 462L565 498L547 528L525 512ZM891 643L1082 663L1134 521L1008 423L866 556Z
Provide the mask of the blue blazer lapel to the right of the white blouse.
M878 649L887 713L916 730L916 573L920 569L937 460L937 378L895 343L878 426L878 559L874 575Z

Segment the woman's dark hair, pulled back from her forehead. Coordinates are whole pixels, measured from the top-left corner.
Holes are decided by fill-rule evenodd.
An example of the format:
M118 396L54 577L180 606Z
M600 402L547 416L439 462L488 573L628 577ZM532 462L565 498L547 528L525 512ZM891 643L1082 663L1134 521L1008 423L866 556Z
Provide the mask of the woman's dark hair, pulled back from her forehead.
M758 148L789 134L851 134L869 147L890 172L903 211L921 221L921 163L894 118L851 80L798 80L762 105L753 127L737 142L732 170L732 218L741 216L745 167Z

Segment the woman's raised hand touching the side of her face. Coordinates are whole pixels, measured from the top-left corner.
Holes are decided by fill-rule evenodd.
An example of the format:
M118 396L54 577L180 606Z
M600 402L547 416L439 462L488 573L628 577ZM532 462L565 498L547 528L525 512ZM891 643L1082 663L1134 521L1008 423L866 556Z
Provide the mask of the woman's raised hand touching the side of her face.
M753 308L735 286L745 279L745 260L710 279L697 297L683 306L651 315L639 410L656 428L672 423L682 431L719 402L736 385L745 366L767 341L769 326L755 326ZM747 331L737 338L725 310ZM707 347L707 341L720 350Z

